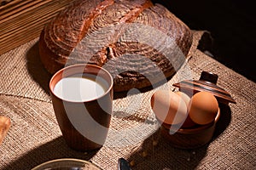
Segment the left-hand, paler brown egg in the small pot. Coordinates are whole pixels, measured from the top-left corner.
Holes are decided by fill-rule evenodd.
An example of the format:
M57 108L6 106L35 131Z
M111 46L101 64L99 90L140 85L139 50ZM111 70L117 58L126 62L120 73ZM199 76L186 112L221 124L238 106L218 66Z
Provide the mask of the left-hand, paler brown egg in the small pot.
M187 117L187 105L183 99L170 90L158 90L151 97L151 108L160 122L183 123Z

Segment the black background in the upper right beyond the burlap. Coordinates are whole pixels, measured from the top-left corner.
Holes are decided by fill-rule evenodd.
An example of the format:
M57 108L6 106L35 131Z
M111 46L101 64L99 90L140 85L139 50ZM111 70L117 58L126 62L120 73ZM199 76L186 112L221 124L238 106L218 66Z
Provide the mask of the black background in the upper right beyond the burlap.
M253 2L238 0L162 0L161 3L192 30L207 30L213 38L213 58L256 82L256 16ZM256 63L256 62L255 62Z

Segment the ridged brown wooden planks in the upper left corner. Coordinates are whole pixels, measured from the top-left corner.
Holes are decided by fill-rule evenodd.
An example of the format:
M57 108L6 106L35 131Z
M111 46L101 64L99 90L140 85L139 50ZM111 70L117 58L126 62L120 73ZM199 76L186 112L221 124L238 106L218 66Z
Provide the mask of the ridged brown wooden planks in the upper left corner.
M15 0L0 7L0 54L38 37L73 0Z

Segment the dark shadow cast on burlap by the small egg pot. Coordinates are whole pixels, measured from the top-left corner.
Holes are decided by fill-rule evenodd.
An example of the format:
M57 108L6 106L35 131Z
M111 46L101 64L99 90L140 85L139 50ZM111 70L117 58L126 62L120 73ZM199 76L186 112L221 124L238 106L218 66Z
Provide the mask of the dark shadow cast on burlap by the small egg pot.
M229 105L219 105L222 115L216 124L212 141L195 149L178 149L172 146L160 134L160 129L145 139L143 145L133 150L128 158L136 169L195 169L207 154L207 148L230 124Z

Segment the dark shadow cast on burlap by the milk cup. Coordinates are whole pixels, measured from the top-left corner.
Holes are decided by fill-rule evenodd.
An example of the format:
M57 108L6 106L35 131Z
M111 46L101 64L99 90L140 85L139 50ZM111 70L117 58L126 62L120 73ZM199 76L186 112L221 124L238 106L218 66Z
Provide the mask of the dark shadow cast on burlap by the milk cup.
M70 149L62 137L53 139L46 144L38 146L33 150L28 151L19 159L13 161L3 169L32 169L45 161L51 161L60 158L76 158L82 160L90 160L96 154L97 150L88 153L79 152ZM11 154L11 153L10 153Z

